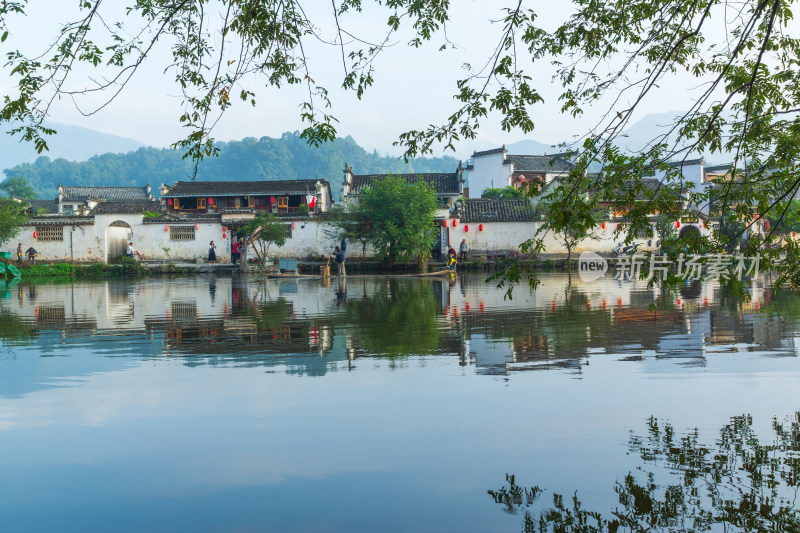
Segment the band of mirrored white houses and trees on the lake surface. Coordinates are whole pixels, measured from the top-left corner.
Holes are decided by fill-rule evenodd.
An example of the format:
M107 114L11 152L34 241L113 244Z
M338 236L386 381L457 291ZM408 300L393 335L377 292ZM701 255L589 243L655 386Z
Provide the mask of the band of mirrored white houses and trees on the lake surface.
M414 355L452 356L489 374L580 371L598 354L692 365L735 350L796 356L794 320L765 312L776 303L763 284L753 288L753 301L742 303L725 300L712 284L661 293L546 275L536 291L517 287L508 299L481 275L328 285L195 277L20 284L0 294L0 308L18 315L45 353L92 343L98 356L166 356L302 375Z

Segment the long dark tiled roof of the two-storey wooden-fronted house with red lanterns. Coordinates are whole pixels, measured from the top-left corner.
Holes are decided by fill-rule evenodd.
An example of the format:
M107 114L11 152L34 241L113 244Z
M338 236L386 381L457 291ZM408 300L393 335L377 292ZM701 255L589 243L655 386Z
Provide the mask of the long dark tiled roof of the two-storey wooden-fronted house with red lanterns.
M259 181L176 181L163 194L164 198L202 196L249 196L257 194L314 194L317 182L327 180L259 180Z

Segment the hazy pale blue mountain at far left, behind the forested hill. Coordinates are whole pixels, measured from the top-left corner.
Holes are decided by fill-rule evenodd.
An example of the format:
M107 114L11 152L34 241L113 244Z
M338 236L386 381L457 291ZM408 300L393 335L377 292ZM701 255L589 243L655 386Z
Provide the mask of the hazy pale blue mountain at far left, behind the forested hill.
M20 163L33 163L41 155L51 159L85 161L92 156L105 153L124 154L146 146L139 141L118 135L69 126L67 124L47 123L56 134L46 138L49 150L37 154L32 143L19 142L19 137L8 135L10 128L0 131L0 161L6 168Z

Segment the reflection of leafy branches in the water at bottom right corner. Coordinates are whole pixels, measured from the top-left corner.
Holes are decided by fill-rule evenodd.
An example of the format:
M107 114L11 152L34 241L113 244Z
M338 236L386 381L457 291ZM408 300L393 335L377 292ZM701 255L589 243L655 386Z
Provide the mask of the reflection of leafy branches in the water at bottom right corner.
M531 532L800 531L800 412L773 420L772 430L762 442L752 418L737 416L708 446L697 430L678 436L651 418L647 435L629 442L642 467L616 483L619 506L607 517L584 509L576 492L568 503L554 494L536 518L541 489L517 485L514 476L488 492L507 512L522 513Z

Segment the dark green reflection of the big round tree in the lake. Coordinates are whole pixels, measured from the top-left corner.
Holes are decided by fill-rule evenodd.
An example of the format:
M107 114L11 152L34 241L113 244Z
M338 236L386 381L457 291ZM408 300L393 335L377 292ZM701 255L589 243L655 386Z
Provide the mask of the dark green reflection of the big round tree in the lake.
M429 280L390 280L370 298L346 303L353 341L371 355L436 352L439 312Z

